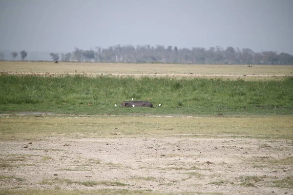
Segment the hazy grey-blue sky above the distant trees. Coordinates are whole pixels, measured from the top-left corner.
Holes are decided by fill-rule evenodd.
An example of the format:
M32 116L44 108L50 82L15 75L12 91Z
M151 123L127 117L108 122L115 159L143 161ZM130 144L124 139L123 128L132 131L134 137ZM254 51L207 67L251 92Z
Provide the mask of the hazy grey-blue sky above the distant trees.
M117 44L293 54L293 0L0 0L0 49Z

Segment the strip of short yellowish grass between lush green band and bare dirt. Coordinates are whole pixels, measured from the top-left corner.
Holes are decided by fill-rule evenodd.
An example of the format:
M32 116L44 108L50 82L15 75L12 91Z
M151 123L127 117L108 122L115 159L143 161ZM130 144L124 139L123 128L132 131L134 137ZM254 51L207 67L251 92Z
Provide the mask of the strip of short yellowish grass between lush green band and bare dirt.
M188 118L185 116L54 116L42 118L34 116L0 117L0 140L56 136L74 138L117 138L148 135L176 135L184 137L228 136L259 139L268 137L270 139L293 139L293 123L291 121L293 121L293 116L224 118ZM54 128L50 126L54 126ZM114 127L119 127L119 135L111 134ZM280 129L280 131L275 131L276 128ZM222 129L226 129L226 132L229 133L221 133ZM172 155L173 154L170 154L170 156ZM174 155L178 156L177 154ZM254 158L252 158L252 162L253 160ZM258 160L261 159L259 158Z

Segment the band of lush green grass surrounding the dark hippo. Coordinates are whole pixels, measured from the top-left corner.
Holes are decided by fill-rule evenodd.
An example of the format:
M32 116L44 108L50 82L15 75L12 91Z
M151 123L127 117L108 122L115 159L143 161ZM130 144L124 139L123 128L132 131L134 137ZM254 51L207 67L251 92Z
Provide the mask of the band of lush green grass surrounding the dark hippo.
M72 114L293 114L293 78L134 78L84 75L0 76L0 112ZM155 108L121 108L124 100L150 99ZM161 103L162 106L158 107ZM118 104L118 107L114 107Z

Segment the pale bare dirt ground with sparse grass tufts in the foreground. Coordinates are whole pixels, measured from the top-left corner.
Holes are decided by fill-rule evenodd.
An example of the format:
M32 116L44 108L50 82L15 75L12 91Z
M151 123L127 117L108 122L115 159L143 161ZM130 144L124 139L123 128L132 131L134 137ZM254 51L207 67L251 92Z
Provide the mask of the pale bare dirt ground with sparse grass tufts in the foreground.
M293 194L288 179L284 180L293 179L292 140L190 135L44 137L32 142L1 141L0 148L2 190Z

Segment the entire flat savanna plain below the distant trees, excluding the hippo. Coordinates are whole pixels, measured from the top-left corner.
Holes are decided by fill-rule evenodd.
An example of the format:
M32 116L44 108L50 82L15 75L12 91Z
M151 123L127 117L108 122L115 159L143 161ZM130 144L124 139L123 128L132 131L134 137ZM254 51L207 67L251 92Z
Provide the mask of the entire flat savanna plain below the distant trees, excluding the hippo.
M0 70L0 195L293 194L293 66Z

